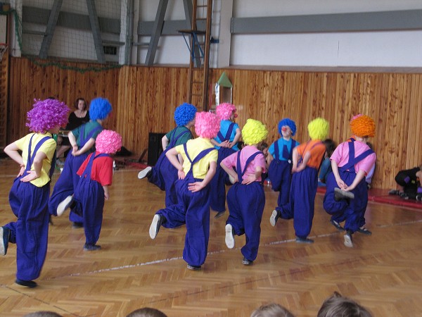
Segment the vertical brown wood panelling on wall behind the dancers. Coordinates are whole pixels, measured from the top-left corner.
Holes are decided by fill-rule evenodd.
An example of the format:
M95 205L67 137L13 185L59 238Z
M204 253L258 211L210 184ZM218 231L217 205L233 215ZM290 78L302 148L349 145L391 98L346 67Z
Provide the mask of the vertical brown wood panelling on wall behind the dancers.
M307 123L318 116L330 122L330 137L343 142L350 137L350 118L364 113L377 125L376 137L370 140L378 156L374 187L395 187L398 170L422 163L421 74L230 68L211 70L211 86L223 71L234 85L237 122L242 126L247 118L262 120L269 128L268 143L279 137L277 125L285 117L295 120L295 138L305 142ZM124 147L138 156L148 148L149 132L173 128L174 108L186 101L188 90L188 69L177 67L124 66L103 73L77 73L12 58L10 77L10 139L27 132L25 113L34 98L54 96L71 104L79 96L87 100L102 96L113 104L107 127L120 132Z

